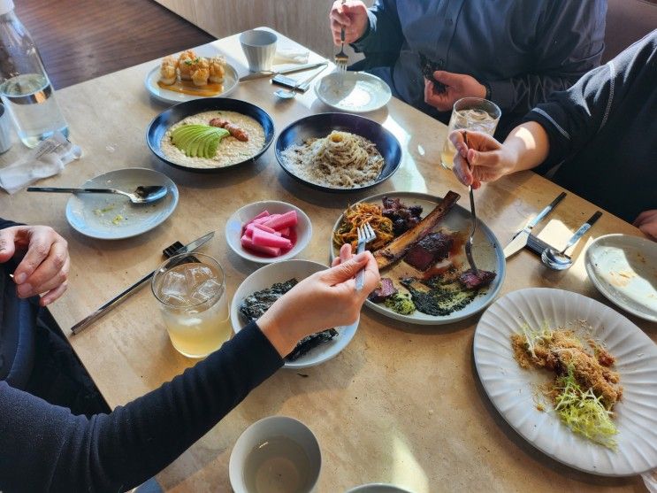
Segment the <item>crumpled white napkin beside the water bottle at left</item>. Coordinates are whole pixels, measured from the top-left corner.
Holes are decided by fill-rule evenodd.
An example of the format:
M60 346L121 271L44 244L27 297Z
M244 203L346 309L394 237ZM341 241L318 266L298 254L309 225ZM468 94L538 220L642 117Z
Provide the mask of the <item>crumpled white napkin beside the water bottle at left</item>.
M0 187L13 194L34 181L61 173L64 166L81 155L80 146L56 132L10 166L0 169Z

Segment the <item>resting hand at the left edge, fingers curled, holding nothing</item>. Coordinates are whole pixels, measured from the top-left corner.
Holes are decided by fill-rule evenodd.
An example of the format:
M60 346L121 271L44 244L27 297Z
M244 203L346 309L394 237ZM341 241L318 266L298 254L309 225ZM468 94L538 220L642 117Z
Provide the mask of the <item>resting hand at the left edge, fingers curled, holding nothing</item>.
M19 297L43 294L45 306L61 297L67 287L68 243L52 227L13 226L0 229L0 264L23 256L13 273Z

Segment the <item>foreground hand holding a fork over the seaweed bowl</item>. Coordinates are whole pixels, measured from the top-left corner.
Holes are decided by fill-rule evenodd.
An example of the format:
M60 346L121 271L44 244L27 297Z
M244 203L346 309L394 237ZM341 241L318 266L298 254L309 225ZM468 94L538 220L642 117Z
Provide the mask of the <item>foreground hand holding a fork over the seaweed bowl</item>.
M363 289L355 290L355 274L364 269ZM378 286L377 262L369 251L351 256L342 245L330 269L300 281L257 320L257 325L281 357L306 335L355 322L365 298Z

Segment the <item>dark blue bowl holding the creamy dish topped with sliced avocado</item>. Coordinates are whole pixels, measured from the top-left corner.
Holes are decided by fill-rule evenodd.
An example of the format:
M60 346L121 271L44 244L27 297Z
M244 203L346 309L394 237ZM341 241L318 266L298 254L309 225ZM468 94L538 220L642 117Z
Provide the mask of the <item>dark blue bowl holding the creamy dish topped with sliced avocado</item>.
M216 168L194 168L190 166L183 166L170 161L164 152L162 152L162 137L166 133L167 128L173 124L178 123L181 119L186 119L188 116L195 115L201 112L238 112L247 115L263 126L264 128L264 146L254 157L248 158L240 163L234 165L221 166ZM271 141L274 140L274 122L271 116L267 114L262 108L255 104L240 101L239 99L228 99L227 97L206 97L201 99L193 99L184 103L176 104L168 110L161 112L153 121L150 122L146 130L146 143L149 144L149 149L153 151L158 158L162 159L167 165L173 166L185 171L192 171L194 173L217 173L225 168L233 166L240 166L245 163L255 161L263 155L264 151L269 148Z

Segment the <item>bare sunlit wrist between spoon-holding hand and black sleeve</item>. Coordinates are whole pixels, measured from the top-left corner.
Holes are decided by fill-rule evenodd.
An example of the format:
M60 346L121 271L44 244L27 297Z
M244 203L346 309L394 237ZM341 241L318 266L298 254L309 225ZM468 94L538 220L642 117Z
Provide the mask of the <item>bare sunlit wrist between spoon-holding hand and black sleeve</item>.
M539 166L547 158L550 141L545 128L527 121L514 128L502 146L509 159L506 174L510 174Z

